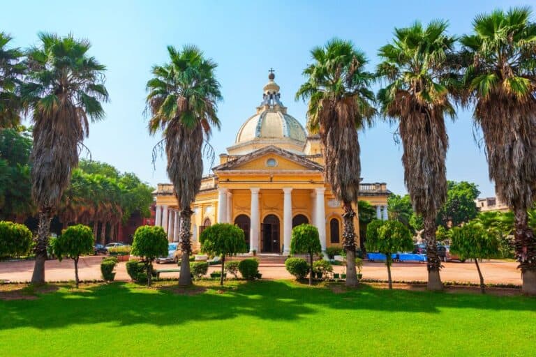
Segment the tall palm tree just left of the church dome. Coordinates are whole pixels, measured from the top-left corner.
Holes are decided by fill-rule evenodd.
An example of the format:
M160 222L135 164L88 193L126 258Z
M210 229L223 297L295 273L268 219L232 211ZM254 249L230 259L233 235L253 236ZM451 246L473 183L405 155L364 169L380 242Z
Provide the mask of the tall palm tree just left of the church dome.
M147 82L147 107L151 112L149 132L154 135L158 130L163 131L168 176L181 211L179 284L189 285L192 283L188 260L191 204L201 186L204 139L209 138L212 126L220 128L216 110L222 97L214 75L217 65L205 59L198 47L186 45L176 50L168 46L168 53L170 62L154 66L154 77Z

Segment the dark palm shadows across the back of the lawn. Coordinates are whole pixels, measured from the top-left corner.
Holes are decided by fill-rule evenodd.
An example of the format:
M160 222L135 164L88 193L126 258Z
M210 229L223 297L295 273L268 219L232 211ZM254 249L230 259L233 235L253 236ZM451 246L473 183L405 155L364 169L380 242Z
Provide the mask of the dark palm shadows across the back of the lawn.
M236 317L292 321L308 314L337 310L438 313L443 308L536 311L536 300L389 291L362 285L334 292L288 281L255 281L236 285L193 287L195 294L177 294L176 287L145 289L135 284L95 284L78 290L59 289L34 301L0 301L0 329L31 326L62 328L71 324L110 323L117 326L185 324ZM319 310L324 310L320 312Z

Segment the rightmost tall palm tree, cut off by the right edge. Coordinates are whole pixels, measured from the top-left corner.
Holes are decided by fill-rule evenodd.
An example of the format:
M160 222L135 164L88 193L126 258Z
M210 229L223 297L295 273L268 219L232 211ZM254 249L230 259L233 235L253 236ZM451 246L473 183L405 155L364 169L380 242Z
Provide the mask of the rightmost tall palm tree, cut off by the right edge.
M516 259L523 291L536 294L536 241L527 210L536 198L536 24L529 8L477 15L461 38L470 56L463 103L475 105L489 177L515 215Z

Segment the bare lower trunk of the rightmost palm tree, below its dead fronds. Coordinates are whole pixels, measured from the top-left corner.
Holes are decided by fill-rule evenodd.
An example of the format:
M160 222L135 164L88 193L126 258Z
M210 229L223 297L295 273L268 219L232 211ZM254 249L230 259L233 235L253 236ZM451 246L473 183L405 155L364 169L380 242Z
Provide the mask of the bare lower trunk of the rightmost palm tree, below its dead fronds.
M528 227L528 213L523 207L514 207L516 259L521 268L524 294L536 295L536 241L534 232Z

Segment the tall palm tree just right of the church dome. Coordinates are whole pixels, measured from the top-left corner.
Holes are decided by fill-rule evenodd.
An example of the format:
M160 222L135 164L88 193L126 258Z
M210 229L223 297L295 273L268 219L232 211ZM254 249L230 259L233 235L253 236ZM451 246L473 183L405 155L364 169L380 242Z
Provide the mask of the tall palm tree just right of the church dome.
M308 100L308 131L320 134L326 181L343 202L343 246L346 251L346 285L357 284L356 235L352 203L359 198L361 162L357 130L371 126L376 111L369 89L374 75L364 70L365 54L350 41L332 39L311 50L313 63L304 70L307 82L296 100Z

